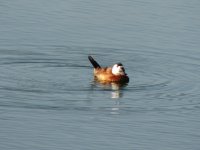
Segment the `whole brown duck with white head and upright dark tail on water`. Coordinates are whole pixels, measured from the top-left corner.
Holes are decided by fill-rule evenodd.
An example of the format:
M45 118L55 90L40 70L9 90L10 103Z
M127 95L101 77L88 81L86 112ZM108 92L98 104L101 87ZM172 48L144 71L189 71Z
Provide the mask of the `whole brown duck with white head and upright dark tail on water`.
M94 67L94 79L102 83L128 83L129 77L122 63L116 63L112 67L101 67L92 56L88 56Z

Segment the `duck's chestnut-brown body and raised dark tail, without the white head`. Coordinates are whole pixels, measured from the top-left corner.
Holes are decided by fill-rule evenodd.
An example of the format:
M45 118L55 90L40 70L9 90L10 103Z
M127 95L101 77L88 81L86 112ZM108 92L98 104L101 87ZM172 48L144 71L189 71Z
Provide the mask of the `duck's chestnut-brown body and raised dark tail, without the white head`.
M100 82L109 83L109 82L118 82L118 83L128 83L129 77L124 74L113 74L112 67L102 68L100 65L91 57L88 57L90 62L94 66L94 78Z

